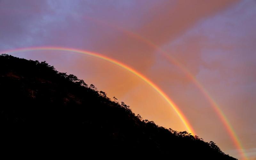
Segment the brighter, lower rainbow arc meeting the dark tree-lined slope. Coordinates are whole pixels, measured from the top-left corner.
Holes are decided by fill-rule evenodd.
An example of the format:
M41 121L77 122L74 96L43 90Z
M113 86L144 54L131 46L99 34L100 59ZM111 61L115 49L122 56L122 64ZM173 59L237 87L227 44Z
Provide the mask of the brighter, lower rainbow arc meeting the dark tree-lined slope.
M102 60L106 60L110 63L113 63L121 68L126 69L127 71L133 73L134 75L138 76L141 80L146 82L148 85L150 85L156 92L158 92L164 100L167 101L167 103L174 109L174 111L178 114L180 117L180 120L183 122L185 127L187 128L188 132L191 133L192 135L196 135L194 129L192 126L189 124L187 118L185 115L181 112L181 110L178 108L178 106L164 93L156 84L154 84L151 80L149 80L146 76L142 75L140 72L136 71L135 69L127 66L126 64L119 62L115 59L109 58L107 56L104 56L99 53L94 53L94 52L88 52L84 50L78 50L78 49L73 49L73 48L63 48L63 47L29 47L29 48L19 48L19 49L14 49L14 50L8 50L8 51L3 51L0 52L0 54L10 54L10 53L17 53L17 52L29 52L29 51L65 51L65 52L75 52L75 53L80 53L80 54L85 54L89 55L92 57L96 57Z

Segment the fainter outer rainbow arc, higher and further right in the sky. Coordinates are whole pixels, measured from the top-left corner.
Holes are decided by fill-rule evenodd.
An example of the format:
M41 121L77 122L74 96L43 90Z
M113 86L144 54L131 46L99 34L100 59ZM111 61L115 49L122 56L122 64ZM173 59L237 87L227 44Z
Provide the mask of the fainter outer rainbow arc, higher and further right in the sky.
M196 79L195 76L193 76L190 71L185 68L178 60L174 59L173 57L171 57L166 51L164 51L163 49L161 49L159 46L157 46L156 44L154 44L153 42L151 42L150 40L140 36L139 34L136 34L134 32L125 30L124 28L120 28L118 26L115 26L113 24L109 24L103 20L98 20L98 19L92 19L91 17L84 17L87 20L91 20L94 21L96 23L99 23L101 25L104 26L108 26L111 28L114 28L130 37L133 37L145 44L148 44L149 46L151 46L154 49L158 49L158 51L167 58L167 60L169 62L171 62L172 64L174 64L176 67L178 67L180 70L182 70L186 76L192 80L192 82L196 85L196 87L200 90L200 92L202 92L202 94L205 96L205 98L209 101L209 103L211 104L212 108L214 109L214 111L217 113L217 115L220 117L221 122L224 124L229 136L231 137L233 143L235 144L237 150L239 151L240 155L243 157L243 159L248 159L248 157L246 156L245 152L244 152L244 147L242 145L242 143L240 142L238 136L236 135L236 132L234 130L234 128L232 127L232 125L230 124L230 122L228 121L227 116L223 113L223 111L220 109L219 105L217 104L217 102L212 98L212 96L210 95L209 92L207 92L207 90L204 88L204 86L202 84L200 84L200 82Z

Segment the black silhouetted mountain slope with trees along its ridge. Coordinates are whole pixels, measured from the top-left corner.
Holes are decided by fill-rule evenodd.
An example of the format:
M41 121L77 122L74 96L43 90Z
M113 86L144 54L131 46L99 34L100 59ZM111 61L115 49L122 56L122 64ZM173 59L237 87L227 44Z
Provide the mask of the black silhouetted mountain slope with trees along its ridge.
M5 151L235 159L212 141L142 120L123 102L45 61L0 55L0 97Z

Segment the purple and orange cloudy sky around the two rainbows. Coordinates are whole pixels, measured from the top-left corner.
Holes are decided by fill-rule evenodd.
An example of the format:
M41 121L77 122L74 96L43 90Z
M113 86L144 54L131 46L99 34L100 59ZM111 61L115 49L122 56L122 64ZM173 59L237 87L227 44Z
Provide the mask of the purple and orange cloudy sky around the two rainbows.
M212 100L254 160L255 28L255 0L0 0L0 52L58 46L115 59L164 91L196 135L242 159ZM11 54L46 60L124 101L144 119L187 130L152 86L115 64L68 51Z

